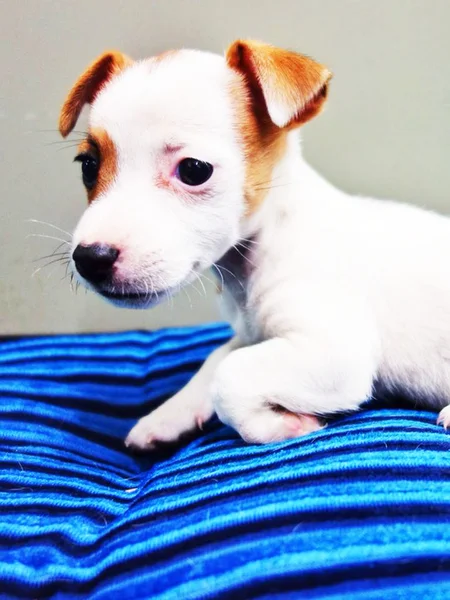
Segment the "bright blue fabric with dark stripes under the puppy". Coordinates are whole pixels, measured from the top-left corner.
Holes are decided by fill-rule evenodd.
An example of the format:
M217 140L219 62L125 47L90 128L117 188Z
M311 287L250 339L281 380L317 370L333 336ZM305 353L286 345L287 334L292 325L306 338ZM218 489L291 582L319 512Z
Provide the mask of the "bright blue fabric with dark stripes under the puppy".
M125 449L229 334L0 344L2 599L450 598L450 438L430 412L262 447L213 422Z

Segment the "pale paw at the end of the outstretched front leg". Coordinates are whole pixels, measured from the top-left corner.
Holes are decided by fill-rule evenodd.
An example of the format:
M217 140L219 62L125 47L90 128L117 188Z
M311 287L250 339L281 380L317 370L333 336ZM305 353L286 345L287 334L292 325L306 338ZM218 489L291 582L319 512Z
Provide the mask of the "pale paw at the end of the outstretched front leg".
M177 442L212 416L208 403L181 401L174 396L152 413L140 419L128 434L125 445L139 450L153 450L158 445Z

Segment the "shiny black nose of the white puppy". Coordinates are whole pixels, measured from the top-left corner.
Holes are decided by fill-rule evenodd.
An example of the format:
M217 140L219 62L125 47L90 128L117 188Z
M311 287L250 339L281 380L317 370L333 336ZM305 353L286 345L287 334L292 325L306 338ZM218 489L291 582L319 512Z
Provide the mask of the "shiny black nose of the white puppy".
M78 244L72 254L78 273L91 283L100 283L111 277L118 256L117 248L104 244Z

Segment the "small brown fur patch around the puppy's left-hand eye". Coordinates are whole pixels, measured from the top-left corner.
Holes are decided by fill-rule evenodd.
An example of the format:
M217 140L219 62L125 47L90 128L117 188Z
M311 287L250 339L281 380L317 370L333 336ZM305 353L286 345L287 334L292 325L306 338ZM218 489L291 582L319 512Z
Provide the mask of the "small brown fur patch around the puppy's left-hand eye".
M117 150L114 142L104 129L92 129L88 137L78 147L80 153L87 153L100 163L95 186L88 190L88 202L93 202L100 194L104 194L114 182L117 175Z

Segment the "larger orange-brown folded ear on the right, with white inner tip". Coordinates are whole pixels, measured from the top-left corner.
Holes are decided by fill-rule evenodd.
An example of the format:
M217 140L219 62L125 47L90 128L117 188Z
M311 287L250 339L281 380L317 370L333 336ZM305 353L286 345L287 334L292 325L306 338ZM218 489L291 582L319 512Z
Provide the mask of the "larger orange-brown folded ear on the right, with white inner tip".
M226 59L245 77L256 109L263 109L278 127L301 125L322 109L331 73L311 58L238 40L228 48Z

